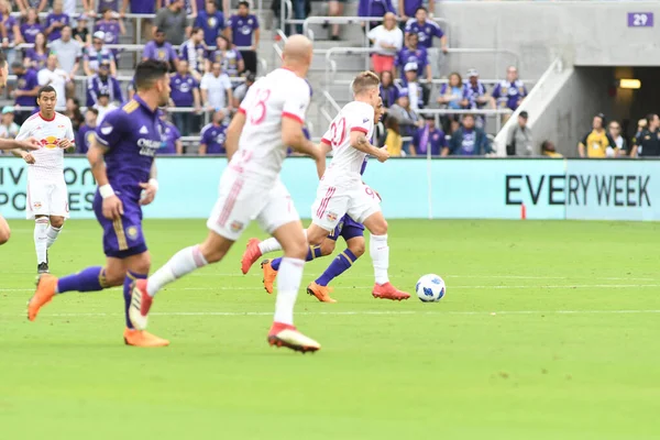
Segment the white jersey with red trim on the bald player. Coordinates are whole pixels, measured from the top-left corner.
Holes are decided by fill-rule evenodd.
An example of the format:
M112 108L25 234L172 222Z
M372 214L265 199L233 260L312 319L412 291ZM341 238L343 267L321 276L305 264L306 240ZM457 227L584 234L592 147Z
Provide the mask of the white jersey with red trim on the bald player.
M254 82L239 109L245 114L245 125L230 166L260 178L276 178L287 150L282 142L282 119L304 123L310 96L307 81L285 68Z

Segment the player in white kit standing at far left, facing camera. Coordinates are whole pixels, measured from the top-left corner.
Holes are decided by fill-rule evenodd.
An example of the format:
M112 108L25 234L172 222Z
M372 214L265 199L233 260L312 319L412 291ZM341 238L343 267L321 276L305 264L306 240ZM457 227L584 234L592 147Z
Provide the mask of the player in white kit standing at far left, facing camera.
M28 153L14 150L28 163L25 217L34 220L37 273L48 273L48 249L68 219L68 191L64 182L64 151L74 147L72 121L55 111L57 92L51 86L38 89L38 112L23 122L18 140L36 138L41 148Z

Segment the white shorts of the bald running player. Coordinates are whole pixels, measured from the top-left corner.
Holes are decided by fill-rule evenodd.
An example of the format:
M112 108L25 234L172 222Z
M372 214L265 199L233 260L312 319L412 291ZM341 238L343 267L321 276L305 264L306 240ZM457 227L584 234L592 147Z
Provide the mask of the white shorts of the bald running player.
M219 197L207 228L237 241L252 220L273 234L279 227L299 221L292 196L279 179L275 183L245 178L228 169L220 179Z

